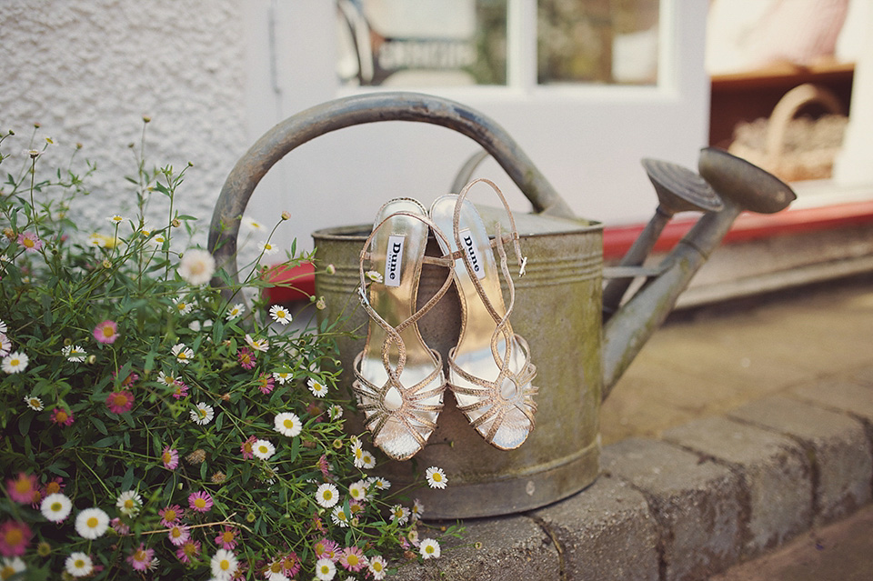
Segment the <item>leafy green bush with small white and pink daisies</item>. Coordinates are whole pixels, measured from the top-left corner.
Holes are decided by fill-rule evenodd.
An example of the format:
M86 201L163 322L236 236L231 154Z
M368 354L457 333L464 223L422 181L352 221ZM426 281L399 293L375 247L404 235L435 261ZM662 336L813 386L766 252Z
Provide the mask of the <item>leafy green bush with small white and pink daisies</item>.
M48 146L30 149L0 189L3 578L16 566L35 579L221 578L222 558L236 578L265 578L270 566L309 578L319 558L337 561L343 549L370 561L403 555L423 525L415 511L408 523L391 518L409 499L368 476L370 455L343 430L352 407L335 386L335 337L267 316L262 256L231 285L206 252L174 250L195 231L196 219L173 205L185 169L147 171L140 151L128 178L138 214L106 216L97 229L111 232L92 233L66 215L95 167L75 174L74 155L69 168L44 172ZM170 209L153 229L154 193ZM310 258L295 249L285 265ZM326 396L315 395L316 382ZM336 487L333 502L319 501L326 485ZM349 496L353 487L366 496ZM197 493L212 506L197 510ZM51 494L68 499L69 515L46 507ZM177 520L162 523L173 506ZM76 524L92 507L111 526ZM171 542L174 523L186 527L186 544ZM234 540L223 553L216 539L226 532ZM336 569L336 578L366 574Z

